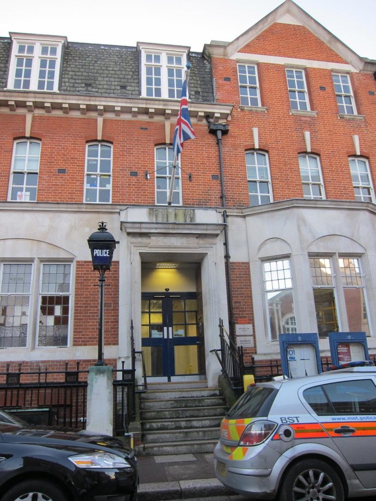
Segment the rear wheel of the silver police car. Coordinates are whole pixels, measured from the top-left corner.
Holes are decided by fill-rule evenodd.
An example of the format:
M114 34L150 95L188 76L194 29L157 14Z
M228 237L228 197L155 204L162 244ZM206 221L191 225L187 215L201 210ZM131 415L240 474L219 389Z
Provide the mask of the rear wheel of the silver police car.
M279 501L343 501L341 480L336 471L319 459L305 459L285 474Z

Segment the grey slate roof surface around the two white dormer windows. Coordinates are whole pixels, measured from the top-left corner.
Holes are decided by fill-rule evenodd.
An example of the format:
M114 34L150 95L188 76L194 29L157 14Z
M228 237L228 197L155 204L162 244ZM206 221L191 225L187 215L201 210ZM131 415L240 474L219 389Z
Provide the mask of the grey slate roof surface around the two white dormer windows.
M0 89L7 84L10 39L0 38ZM140 97L140 55L135 47L68 43L63 52L60 93ZM210 61L191 53L190 99L214 103Z

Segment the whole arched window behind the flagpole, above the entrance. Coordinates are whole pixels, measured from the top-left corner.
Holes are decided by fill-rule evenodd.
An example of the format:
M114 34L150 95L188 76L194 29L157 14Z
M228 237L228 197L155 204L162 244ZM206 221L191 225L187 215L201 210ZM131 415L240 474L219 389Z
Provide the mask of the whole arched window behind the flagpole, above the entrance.
M171 146L155 148L155 203L166 205L171 185L173 150ZM179 162L176 165L172 190L172 205L181 205L181 182Z

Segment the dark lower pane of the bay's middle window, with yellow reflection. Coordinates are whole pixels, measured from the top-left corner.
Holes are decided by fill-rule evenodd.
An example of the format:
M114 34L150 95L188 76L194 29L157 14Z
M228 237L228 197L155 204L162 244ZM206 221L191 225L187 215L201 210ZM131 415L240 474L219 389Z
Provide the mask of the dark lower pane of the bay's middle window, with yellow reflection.
M327 337L329 332L338 331L334 289L313 289L317 332L319 337Z

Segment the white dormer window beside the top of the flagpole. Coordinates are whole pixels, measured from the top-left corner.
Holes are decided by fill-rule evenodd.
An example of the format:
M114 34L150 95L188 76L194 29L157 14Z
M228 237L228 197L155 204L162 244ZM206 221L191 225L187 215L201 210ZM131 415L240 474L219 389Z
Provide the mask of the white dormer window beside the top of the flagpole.
M180 99L187 48L143 44L141 51L141 96Z

